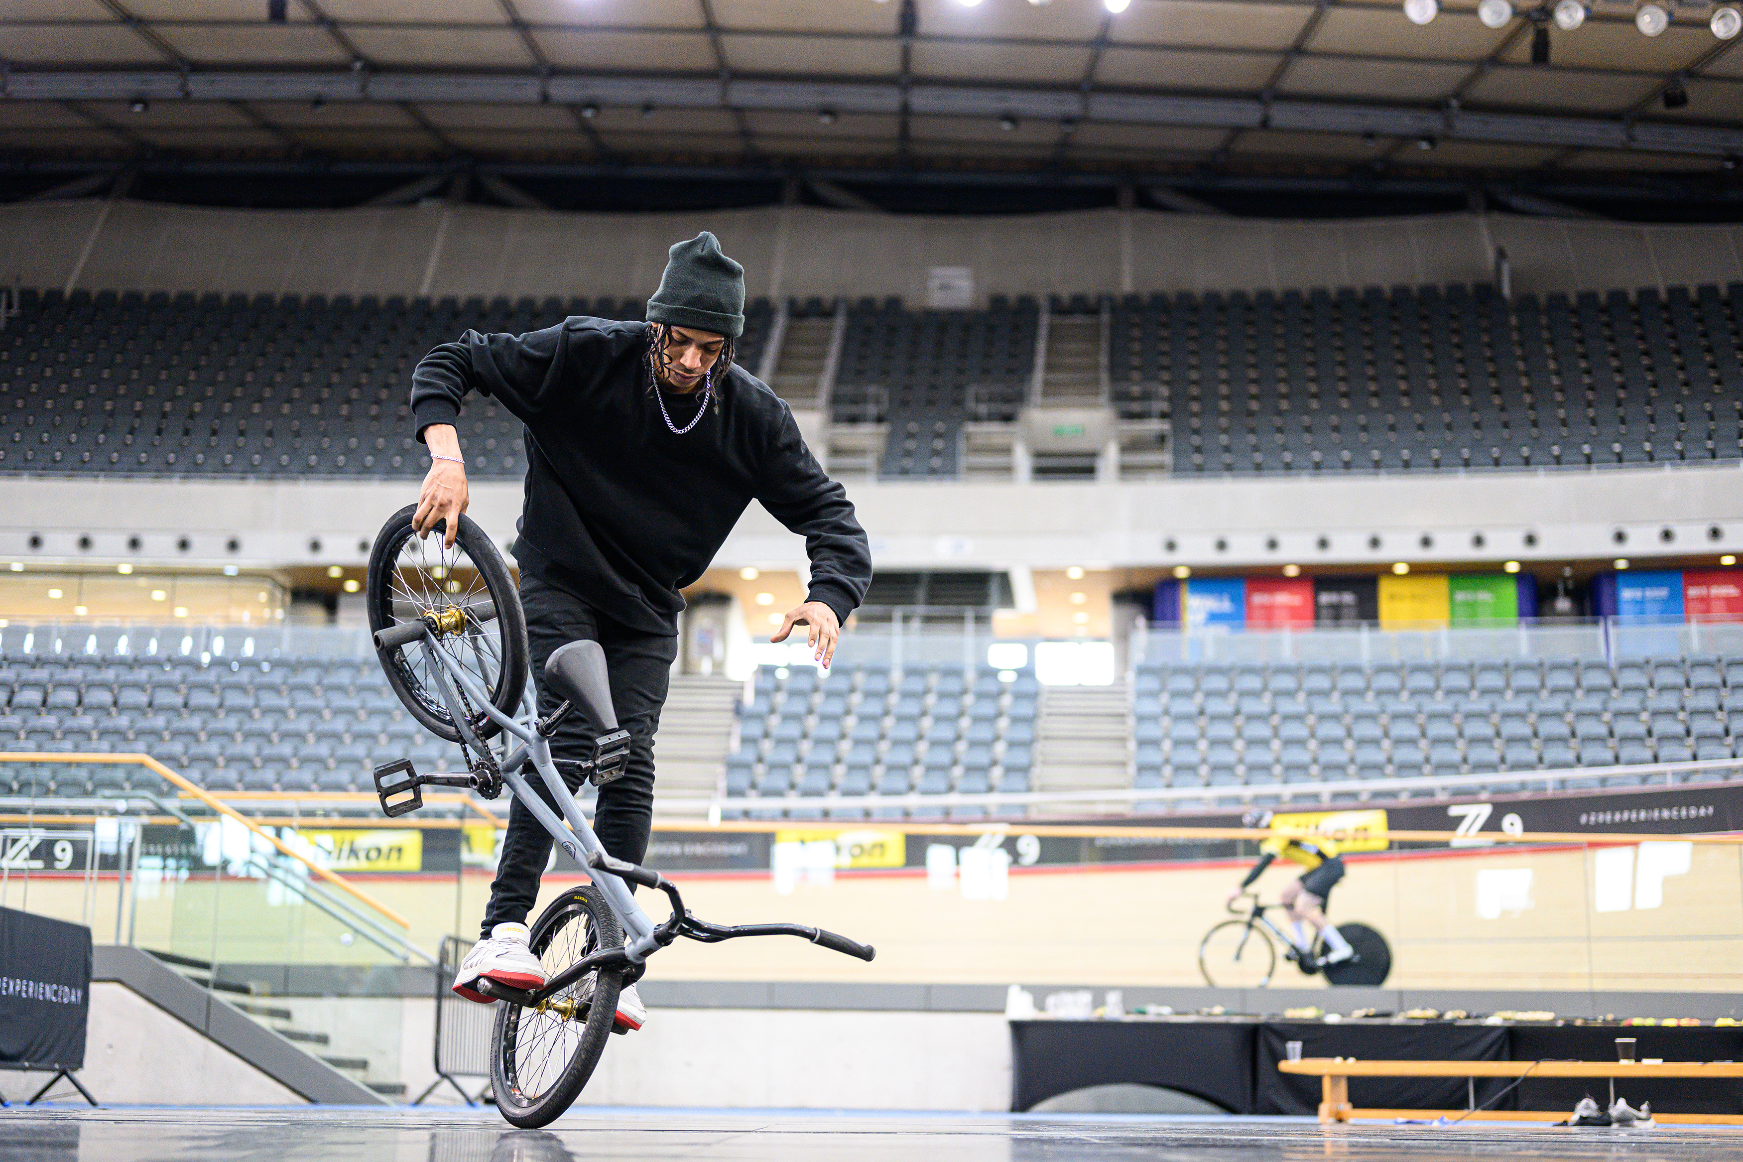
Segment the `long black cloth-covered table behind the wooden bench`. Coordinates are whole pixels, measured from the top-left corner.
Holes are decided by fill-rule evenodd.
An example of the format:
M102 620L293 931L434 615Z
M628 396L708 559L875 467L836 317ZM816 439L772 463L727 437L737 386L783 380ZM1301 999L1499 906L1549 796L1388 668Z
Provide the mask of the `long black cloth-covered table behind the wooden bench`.
M1666 1061L1743 1059L1743 1026L1478 1024L1450 1021L1265 1021L1258 1017L1164 1017L1128 1021L1013 1021L1011 1108L1089 1085L1136 1084L1177 1089L1229 1113L1312 1115L1319 1078L1285 1075L1278 1061L1292 1040L1304 1057L1361 1061L1614 1061L1616 1038L1633 1037L1638 1057ZM1478 1105L1511 1078L1476 1078ZM1494 1110L1572 1110L1583 1096L1609 1099L1604 1080L1525 1078ZM1462 1110L1462 1077L1354 1077L1351 1105L1391 1110ZM1743 1113L1738 1082L1631 1078L1638 1108L1666 1113Z

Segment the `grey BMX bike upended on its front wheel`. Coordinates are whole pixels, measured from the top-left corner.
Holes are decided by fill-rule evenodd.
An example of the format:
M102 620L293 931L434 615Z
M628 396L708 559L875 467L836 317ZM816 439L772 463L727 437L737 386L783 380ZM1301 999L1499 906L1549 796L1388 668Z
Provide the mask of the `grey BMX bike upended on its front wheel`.
M680 936L704 944L797 936L859 960L877 955L798 923L708 923L690 915L671 880L608 855L563 780L558 767L565 760L551 756L558 723L580 713L600 733L591 754L572 761L575 774L594 786L622 775L629 732L617 726L605 652L596 641L554 650L546 683L563 702L540 716L528 683L526 618L497 547L464 516L453 547L443 547L444 524L424 538L411 514L413 507L401 509L375 538L370 629L394 693L420 725L462 747L467 772L418 774L410 760L383 763L375 768L382 810L394 817L418 810L425 786L465 787L483 798L507 787L591 880L561 892L532 923L530 946L547 972L544 988L516 990L488 979L474 986L504 1002L490 1049L490 1080L504 1118L535 1129L575 1101L615 1024L619 991ZM532 777L544 780L558 810L533 791ZM671 916L655 923L629 885L664 892Z

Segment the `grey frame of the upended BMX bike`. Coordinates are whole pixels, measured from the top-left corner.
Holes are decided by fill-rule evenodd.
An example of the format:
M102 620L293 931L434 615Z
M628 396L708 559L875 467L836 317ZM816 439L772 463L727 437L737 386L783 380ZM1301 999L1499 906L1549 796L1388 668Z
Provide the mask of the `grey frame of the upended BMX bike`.
M593 824L587 822L587 815L580 810L580 803L570 794L568 784L563 782L563 775L558 774L556 763L551 761L551 740L539 733L539 706L533 699L532 674L528 674L526 688L521 693L521 706L525 713L521 718L509 718L490 700L490 693L472 679L460 664L448 657L446 650L437 650L431 638L429 629L424 631L422 643L424 657L437 660L446 676L453 678L460 690L465 692L476 706L479 706L490 721L497 723L507 733L519 739L519 746L511 749L502 760L502 780L514 793L514 798L533 814L551 838L556 840L558 847L568 852L570 859L580 864L582 873L600 888L605 895L605 902L617 913L617 922L624 929L624 955L633 963L641 963L647 955L661 948L659 941L654 939L654 922L645 911L636 904L636 897L629 892L629 887L615 875L608 871L598 871L587 866L587 855L600 854L605 855L605 845L600 843L600 836L593 833ZM455 723L464 723L458 707L453 704L446 686L441 688L443 700L448 702L448 714ZM465 733L465 726L460 726ZM485 746L479 742L479 746ZM551 791L551 798L561 808L563 817L558 819L556 812L551 810L532 784L519 774L526 763L532 763L544 779L546 789ZM568 826L563 826L568 821Z

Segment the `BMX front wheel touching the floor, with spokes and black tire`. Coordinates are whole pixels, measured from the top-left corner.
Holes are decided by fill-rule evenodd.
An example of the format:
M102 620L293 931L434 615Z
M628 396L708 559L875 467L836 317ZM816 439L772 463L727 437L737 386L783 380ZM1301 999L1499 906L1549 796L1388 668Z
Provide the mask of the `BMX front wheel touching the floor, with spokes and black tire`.
M530 934L547 976L622 942L617 916L594 887L563 892ZM490 1082L502 1117L521 1129L539 1129L568 1110L612 1035L621 988L621 970L600 969L537 1009L498 1002Z

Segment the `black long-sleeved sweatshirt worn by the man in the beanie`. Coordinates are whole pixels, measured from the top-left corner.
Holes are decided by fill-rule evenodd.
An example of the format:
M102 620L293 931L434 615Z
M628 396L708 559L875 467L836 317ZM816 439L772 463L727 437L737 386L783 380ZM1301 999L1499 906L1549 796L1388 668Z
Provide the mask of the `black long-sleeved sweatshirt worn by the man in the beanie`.
M810 599L840 620L872 582L847 493L805 448L786 402L743 368L702 392L650 390L645 322L572 317L528 334L467 331L411 373L418 439L453 423L465 394L493 395L526 425L526 502L514 556L607 617L675 634L678 591L715 559L751 500L805 537Z

